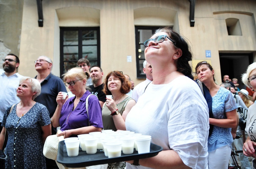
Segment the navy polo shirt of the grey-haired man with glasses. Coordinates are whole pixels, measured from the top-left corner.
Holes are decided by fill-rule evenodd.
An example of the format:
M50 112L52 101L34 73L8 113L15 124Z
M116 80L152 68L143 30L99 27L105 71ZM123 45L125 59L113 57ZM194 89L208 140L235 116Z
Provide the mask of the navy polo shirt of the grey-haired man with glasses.
M37 78L37 76L35 76L35 78ZM34 101L46 106L50 113L50 117L52 117L58 105L56 98L59 92L67 92L66 86L61 78L50 73L41 82L41 93L34 99Z

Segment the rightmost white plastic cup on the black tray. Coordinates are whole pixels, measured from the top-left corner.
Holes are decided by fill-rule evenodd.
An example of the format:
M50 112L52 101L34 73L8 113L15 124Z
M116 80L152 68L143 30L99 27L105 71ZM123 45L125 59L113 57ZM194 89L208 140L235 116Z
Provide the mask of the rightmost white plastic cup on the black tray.
M137 136L135 138L135 142L137 144L139 154L150 152L150 142L151 142L150 135Z

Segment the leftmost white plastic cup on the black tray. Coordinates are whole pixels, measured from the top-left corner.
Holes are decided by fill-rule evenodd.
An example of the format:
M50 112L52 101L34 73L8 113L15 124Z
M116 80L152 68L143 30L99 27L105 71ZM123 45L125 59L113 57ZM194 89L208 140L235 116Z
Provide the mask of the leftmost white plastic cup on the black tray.
M70 137L64 139L67 153L69 157L77 156L79 153L79 144L80 141L78 140L78 137Z

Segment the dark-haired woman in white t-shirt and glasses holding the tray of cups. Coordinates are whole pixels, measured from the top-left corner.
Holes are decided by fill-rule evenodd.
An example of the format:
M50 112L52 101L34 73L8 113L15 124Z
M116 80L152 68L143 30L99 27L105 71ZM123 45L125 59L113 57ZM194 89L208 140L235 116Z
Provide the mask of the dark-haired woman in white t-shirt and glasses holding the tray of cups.
M165 27L145 41L144 47L154 80L125 124L127 130L151 135L152 143L163 151L151 158L129 161L126 168L208 168L208 106L192 80L192 54L187 42Z

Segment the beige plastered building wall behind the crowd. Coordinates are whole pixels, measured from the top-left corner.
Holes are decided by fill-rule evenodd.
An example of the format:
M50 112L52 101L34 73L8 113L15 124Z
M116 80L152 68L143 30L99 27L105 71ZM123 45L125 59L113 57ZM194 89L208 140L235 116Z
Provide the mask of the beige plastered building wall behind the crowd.
M187 0L43 0L43 27L38 26L36 1L24 0L20 38L22 75L34 77L33 61L46 55L54 61L53 73L59 76L59 27L100 26L101 68L105 75L123 71L136 78L134 26L167 26L185 36L194 54L193 67L209 61L221 83L219 52L253 53L256 51L256 1L196 0L195 26L189 24ZM240 21L242 36L228 36L226 19ZM150 37L148 37L150 38ZM211 51L211 58L205 57ZM127 62L127 56L132 62ZM23 64L26 63L26 64Z

